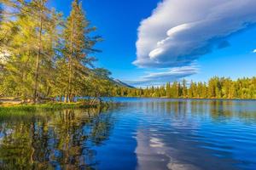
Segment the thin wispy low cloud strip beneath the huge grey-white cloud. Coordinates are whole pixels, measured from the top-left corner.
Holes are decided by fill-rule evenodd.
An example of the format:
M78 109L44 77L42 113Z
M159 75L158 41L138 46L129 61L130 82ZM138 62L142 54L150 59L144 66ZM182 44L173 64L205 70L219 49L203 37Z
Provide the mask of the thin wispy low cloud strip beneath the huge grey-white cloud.
M189 77L198 72L195 65L174 67L163 71L149 72L146 76L140 77L136 81L125 81L133 86L160 85L165 82L179 81L183 77Z

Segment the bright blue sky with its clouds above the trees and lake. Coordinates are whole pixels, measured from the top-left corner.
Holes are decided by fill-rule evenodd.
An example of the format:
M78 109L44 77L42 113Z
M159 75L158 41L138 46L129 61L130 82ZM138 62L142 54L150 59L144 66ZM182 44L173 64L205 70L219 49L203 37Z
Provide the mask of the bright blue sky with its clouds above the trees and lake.
M234 79L256 76L256 54L253 53L256 48L256 27L248 25L241 29L238 26L241 23L256 21L250 17L251 13L247 13L250 8L246 7L246 5L255 5L253 0L248 0L248 3L244 4L244 8L247 8L245 12L242 11L243 8L238 8L241 6L237 3L238 0L231 1L233 3L231 5L235 8L237 3L239 12L234 17L239 22L234 21L236 18L230 17L229 10L218 8L215 3L203 4L202 0L193 1L195 5L192 7L187 7L185 0L165 0L163 3L160 3L160 0L82 1L92 26L98 28L97 34L104 39L96 46L102 50L102 53L96 54L99 59L96 65L110 70L113 73L112 77L136 86L157 85L180 80L183 77L188 80L207 81L213 76ZM65 15L69 14L71 2L71 0L51 0L55 8ZM228 5L230 4L226 6ZM203 15L197 10L213 7L217 12L214 11L209 15L218 14L222 20L204 20L199 24L196 17L187 20L193 14ZM169 8L183 9L183 12L172 10L173 12L170 13ZM228 12L224 14L222 10ZM234 14L234 11L230 11L231 13ZM183 23L187 24L187 22L196 24L184 26ZM174 27L177 29L173 29ZM171 32L173 40L166 37L166 31ZM200 31L203 31L205 37L201 37L202 34L198 33ZM179 45L184 44L180 43L181 41L191 42L193 36L201 39L196 42L193 40L194 42L188 47ZM155 45L161 40L166 41L166 44L162 47ZM137 42L141 43L137 44ZM152 43L148 45L145 42ZM224 48L217 48L221 44L225 44ZM164 53L154 55L154 51L158 52L156 46L163 49ZM202 48L198 51L195 47L199 46ZM185 57L177 50L179 48L188 51ZM147 53L144 53L145 51ZM148 56L149 52L152 52L153 57ZM154 57L156 59L148 62ZM133 63L135 60L137 60L136 65Z

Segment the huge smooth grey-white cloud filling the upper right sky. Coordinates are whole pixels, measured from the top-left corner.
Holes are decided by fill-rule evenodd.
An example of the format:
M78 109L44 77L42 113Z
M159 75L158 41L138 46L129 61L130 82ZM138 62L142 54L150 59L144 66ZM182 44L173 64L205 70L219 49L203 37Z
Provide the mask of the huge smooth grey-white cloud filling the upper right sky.
M137 60L141 67L190 65L224 38L256 22L255 0L164 0L138 28Z

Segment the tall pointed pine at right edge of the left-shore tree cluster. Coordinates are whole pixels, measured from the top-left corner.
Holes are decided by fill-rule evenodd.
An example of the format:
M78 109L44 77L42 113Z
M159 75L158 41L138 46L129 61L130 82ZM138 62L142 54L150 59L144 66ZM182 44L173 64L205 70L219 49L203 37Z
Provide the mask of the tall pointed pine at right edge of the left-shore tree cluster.
M92 65L91 62L94 60L89 54L96 51L93 46L99 41L99 37L90 37L89 34L95 30L95 27L90 27L90 23L85 17L82 3L74 0L63 37L65 43L63 54L68 67L66 95L70 102L73 101L73 97L79 90L76 88L77 80L86 78L86 75L89 74L87 66Z

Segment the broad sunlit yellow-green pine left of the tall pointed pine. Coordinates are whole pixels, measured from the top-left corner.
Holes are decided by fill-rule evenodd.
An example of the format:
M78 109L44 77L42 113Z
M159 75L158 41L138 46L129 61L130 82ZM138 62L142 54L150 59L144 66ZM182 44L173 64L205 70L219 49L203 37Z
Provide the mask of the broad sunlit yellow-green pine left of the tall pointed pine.
M15 95L33 99L49 95L49 77L53 68L55 51L55 11L46 8L46 0L7 3L14 9L11 19L5 20L5 49L9 59L5 65L6 82L12 85ZM48 90L45 90L48 88ZM14 95L14 94L12 94Z

